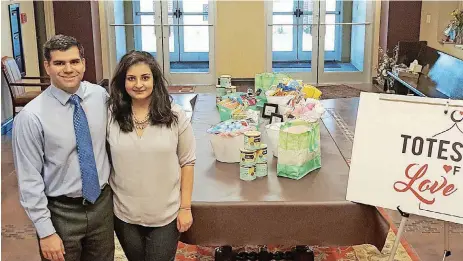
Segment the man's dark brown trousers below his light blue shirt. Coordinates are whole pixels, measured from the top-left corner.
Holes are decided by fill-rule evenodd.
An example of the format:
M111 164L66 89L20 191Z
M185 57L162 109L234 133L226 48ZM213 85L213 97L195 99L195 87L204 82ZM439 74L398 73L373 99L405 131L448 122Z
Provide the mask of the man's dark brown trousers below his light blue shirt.
M64 244L66 261L114 261L113 193L109 185L95 204L83 198L49 197L48 209ZM40 251L42 260L45 259Z

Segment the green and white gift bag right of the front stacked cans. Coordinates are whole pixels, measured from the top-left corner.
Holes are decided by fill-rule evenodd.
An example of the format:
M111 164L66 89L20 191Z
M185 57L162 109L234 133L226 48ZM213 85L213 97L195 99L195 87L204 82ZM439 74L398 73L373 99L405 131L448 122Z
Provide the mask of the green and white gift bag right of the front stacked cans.
M285 122L280 128L277 175L299 180L321 166L319 122Z

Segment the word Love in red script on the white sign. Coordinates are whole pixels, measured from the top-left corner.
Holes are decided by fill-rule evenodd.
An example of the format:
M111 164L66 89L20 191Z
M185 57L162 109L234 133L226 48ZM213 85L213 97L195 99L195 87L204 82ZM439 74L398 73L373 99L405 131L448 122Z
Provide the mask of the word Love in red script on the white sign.
M408 167L405 169L405 176L409 179L408 182L403 182L403 181L397 181L394 183L394 189L397 192L407 192L410 190L415 197L417 197L421 202L425 204L432 205L436 201L435 197L432 198L425 198L423 196L424 192L429 190L432 195L434 195L436 192L439 192L442 190L442 195L444 197L448 197L455 193L457 191L457 188L455 188L454 184L447 184L447 179L445 177L442 177L444 180L441 184L439 184L438 181L434 181L432 183L431 180L429 179L423 179L423 176L426 174L426 171L428 170L428 164L423 165L418 169L418 171L415 173L415 175L410 174L410 169L414 166L417 166L418 164L410 164ZM432 184L431 184L432 183Z

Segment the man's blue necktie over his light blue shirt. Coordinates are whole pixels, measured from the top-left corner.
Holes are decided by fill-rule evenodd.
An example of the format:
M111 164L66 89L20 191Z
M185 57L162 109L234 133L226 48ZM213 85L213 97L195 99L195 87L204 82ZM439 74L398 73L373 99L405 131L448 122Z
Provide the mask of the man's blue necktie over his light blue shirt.
M79 96L73 94L69 101L74 104L74 132L76 135L77 155L79 157L80 172L82 174L82 195L92 204L101 193L93 155L92 137L88 127L87 116L80 105Z

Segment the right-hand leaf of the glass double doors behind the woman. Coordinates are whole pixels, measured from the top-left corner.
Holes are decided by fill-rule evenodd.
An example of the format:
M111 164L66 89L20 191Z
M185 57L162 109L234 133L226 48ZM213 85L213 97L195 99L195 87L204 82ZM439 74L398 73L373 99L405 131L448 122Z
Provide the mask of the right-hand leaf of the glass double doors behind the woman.
M209 0L169 0L168 2L172 4L161 5L162 20L168 21L163 24L163 34L174 33L175 36L163 37L163 68L166 78L173 85L214 84L216 81L213 59L214 2Z

